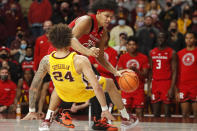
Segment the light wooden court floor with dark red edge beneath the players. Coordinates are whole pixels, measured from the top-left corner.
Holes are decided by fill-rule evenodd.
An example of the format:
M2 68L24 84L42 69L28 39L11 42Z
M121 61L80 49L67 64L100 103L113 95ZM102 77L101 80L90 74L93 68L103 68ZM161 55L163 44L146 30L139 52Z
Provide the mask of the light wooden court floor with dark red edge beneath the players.
M88 123L88 116L72 116L74 129L68 129L53 122L50 131L91 131ZM120 117L116 115L116 125L120 131L197 131L197 120L194 118L183 119L180 117L173 118L153 118L145 116L140 119L137 126L132 129L124 130L120 127ZM38 131L41 120L17 120L14 114L0 114L0 131ZM91 123L92 124L92 123Z

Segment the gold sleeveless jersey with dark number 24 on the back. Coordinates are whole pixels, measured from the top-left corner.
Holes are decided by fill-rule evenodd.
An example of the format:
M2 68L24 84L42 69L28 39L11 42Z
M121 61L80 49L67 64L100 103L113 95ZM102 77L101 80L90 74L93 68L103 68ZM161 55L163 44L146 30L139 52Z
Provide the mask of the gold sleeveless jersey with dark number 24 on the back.
M57 58L55 52L52 52L49 56L51 79L58 96L65 102L86 102L95 96L84 75L75 70L73 58L76 54L72 52L66 57ZM106 79L98 79L100 85L105 88Z

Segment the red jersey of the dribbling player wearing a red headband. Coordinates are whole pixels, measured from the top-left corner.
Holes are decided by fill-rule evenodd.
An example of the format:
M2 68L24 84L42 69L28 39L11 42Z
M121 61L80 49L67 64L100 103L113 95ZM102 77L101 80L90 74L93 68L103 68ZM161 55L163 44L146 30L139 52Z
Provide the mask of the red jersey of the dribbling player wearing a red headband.
M103 29L99 29L98 28L98 22L96 20L96 15L91 14L89 15L91 16L92 20L93 20L93 29L90 33L88 34L84 34L83 36L81 36L78 40L79 42L87 47L87 48L91 48L91 47L95 47L96 43L98 43L103 35ZM74 19L68 26L70 28L73 28L75 26L75 22L78 18ZM50 54L52 51L54 51L54 47L51 45L49 48L48 53Z

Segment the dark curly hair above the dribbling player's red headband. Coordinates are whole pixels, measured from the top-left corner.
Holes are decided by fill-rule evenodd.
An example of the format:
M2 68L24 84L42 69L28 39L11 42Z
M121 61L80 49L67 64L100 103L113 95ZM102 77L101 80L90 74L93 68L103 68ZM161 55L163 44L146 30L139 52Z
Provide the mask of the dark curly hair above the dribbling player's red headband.
M90 11L95 13L98 10L112 10L117 12L118 5L115 0L95 0L95 2L90 7Z

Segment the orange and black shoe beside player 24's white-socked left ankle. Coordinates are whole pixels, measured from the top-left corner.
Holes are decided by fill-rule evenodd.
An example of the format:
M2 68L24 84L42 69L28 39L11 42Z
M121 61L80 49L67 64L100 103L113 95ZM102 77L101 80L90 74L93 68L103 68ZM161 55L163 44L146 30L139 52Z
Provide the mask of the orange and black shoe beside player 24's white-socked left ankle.
M56 118L56 122L67 128L75 128L75 125L72 124L72 118L68 112L68 110L62 111L62 113L58 113Z

